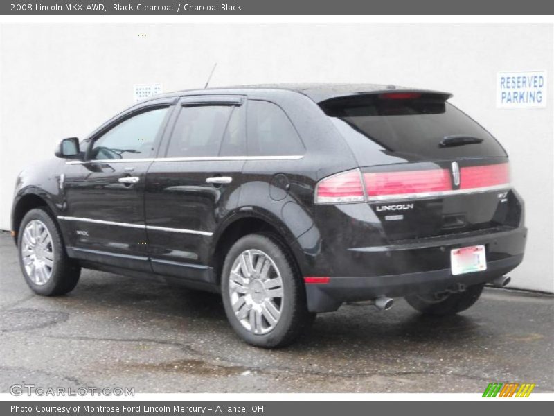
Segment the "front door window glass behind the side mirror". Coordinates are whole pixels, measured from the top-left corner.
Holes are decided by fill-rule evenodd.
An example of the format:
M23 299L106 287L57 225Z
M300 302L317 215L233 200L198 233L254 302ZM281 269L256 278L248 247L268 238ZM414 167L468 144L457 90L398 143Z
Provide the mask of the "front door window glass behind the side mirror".
M89 159L152 157L154 144L169 107L132 116L94 141Z

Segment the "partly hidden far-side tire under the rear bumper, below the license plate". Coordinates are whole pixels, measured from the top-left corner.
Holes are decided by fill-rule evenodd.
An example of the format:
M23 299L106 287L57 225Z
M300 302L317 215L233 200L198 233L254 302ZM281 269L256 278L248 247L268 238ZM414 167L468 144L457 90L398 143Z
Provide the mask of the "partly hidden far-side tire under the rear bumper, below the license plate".
M458 293L431 293L406 296L406 302L426 315L454 315L473 306L481 296L483 284L469 286Z

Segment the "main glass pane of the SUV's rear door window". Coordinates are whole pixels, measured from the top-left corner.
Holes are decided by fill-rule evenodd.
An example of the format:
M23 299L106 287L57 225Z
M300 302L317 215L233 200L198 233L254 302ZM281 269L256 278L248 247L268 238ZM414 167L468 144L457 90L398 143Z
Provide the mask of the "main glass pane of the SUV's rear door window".
M233 108L231 105L182 107L171 135L167 157L217 156Z

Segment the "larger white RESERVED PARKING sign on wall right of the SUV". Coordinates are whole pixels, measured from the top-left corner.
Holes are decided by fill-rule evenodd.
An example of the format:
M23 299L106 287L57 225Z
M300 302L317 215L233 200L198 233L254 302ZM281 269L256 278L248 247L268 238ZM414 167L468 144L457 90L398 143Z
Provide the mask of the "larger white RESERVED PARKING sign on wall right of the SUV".
M546 71L497 73L497 107L546 107Z

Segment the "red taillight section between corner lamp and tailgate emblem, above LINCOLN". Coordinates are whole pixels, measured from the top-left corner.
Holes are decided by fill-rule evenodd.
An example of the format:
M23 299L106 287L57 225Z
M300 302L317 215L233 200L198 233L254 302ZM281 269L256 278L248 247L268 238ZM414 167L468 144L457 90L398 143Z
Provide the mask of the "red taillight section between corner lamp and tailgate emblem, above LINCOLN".
M449 171L446 169L364 173L364 182L369 200L452 189Z

